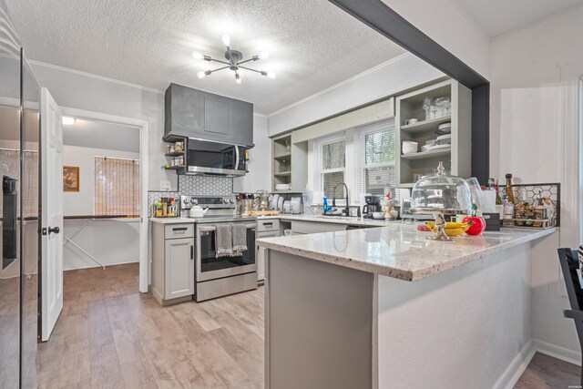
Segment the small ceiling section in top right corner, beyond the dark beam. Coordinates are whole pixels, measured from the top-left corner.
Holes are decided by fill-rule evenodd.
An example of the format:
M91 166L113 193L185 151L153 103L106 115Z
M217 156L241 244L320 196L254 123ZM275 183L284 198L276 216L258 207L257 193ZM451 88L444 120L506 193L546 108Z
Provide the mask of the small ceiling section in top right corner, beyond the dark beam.
M583 5L583 0L455 0L490 37Z

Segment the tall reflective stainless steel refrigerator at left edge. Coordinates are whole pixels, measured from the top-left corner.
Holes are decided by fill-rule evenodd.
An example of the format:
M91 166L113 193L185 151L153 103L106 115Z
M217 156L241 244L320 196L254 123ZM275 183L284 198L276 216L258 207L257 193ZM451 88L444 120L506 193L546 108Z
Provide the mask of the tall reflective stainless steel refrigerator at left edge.
M0 387L36 387L39 87L0 0Z

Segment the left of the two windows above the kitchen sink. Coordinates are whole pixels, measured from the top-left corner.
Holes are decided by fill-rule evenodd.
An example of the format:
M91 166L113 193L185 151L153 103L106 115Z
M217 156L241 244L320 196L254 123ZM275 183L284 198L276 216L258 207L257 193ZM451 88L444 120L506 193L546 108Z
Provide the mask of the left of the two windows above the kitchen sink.
M334 185L344 181L344 168L346 165L346 149L343 138L327 138L317 143L319 149L318 165L320 173L321 189L324 196L332 199ZM346 197L344 189L336 190L336 198Z

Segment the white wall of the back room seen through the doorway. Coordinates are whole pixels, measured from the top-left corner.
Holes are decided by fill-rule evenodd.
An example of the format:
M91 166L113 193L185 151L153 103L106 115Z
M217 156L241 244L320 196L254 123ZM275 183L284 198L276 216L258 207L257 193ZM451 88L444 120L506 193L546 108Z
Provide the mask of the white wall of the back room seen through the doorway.
M79 167L79 191L63 193L65 216L93 214L95 156L139 159L139 153L64 145L63 164ZM86 221L65 220L65 236L70 237ZM139 223L135 221L93 220L73 241L104 265L137 262L139 259ZM70 243L64 247L63 262L65 270L97 266Z

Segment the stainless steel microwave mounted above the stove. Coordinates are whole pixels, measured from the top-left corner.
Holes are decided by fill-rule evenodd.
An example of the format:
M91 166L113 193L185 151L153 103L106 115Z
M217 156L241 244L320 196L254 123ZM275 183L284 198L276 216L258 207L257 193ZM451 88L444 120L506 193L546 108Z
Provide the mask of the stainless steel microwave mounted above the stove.
M210 176L244 176L247 148L227 143L189 138L186 174Z

